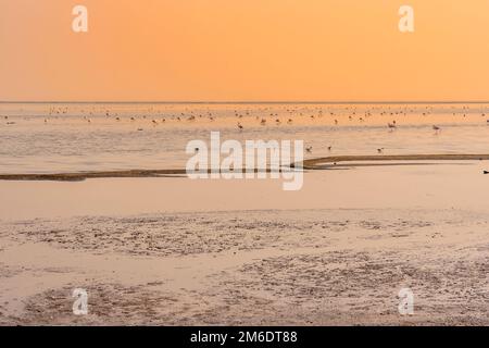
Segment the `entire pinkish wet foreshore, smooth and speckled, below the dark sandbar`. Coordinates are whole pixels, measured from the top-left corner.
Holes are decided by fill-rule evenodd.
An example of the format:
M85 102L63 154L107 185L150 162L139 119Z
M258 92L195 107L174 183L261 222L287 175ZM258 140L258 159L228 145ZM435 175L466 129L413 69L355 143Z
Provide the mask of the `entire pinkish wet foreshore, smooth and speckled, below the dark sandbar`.
M312 171L298 192L0 183L0 324L488 325L489 182L465 164Z

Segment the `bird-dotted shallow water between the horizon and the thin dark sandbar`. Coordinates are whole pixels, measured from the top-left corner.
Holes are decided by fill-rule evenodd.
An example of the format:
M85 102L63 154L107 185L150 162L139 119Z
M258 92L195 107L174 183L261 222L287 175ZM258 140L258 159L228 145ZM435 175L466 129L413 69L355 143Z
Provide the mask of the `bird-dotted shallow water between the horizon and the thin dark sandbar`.
M489 152L489 104L0 103L0 173L180 169L211 130L304 140L306 158Z

